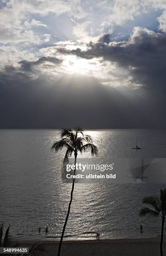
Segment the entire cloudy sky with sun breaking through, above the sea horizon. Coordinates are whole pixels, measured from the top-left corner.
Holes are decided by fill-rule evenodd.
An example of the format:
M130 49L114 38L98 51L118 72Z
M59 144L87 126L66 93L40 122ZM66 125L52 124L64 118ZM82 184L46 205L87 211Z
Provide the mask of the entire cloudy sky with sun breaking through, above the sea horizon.
M166 128L166 0L0 0L0 128Z

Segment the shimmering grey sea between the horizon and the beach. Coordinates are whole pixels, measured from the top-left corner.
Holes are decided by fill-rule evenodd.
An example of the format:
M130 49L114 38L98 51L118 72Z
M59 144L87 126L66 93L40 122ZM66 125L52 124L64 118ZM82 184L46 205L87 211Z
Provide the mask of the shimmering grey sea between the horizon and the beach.
M165 158L166 130L86 131L99 149L98 159ZM135 138L141 150L132 150ZM0 130L0 222L18 238L60 236L71 184L61 179L64 151L50 151L56 130ZM83 157L91 157L86 153ZM70 239L158 236L160 219L139 218L141 199L156 195L166 184L75 184L66 228ZM140 224L143 234L140 234ZM41 227L41 233L38 228ZM69 239L68 238L68 239Z

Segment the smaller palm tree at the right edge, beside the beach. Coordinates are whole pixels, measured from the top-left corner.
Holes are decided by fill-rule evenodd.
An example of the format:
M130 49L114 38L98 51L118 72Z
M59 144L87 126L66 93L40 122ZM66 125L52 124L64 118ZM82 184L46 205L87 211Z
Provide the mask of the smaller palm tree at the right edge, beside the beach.
M144 197L143 204L150 205L153 209L148 207L141 208L139 216L144 217L161 217L161 242L160 242L160 253L163 256L163 228L166 218L166 189L160 190L160 196Z

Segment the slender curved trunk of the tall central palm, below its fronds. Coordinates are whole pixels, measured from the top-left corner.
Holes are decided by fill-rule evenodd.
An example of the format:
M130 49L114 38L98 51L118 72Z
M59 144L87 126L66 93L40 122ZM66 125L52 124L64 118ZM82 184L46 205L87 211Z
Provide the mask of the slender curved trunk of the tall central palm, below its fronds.
M76 164L76 160L77 160L77 155L75 155L74 164ZM73 175L75 175L75 169L74 169ZM67 212L67 215L66 215L65 223L64 223L61 238L60 238L59 248L58 248L58 256L60 256L60 249L61 249L61 246L62 246L63 236L64 236L64 233L65 233L65 228L66 228L66 225L67 225L67 222L68 222L68 216L69 216L69 213L70 213L70 207L71 207L71 203L72 203L72 200L73 200L74 183L75 183L75 179L73 179L71 195L70 195L70 202L69 202L69 205L68 205L68 212Z

